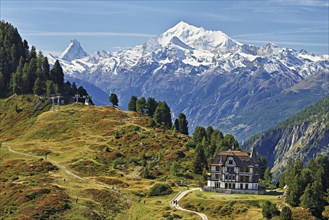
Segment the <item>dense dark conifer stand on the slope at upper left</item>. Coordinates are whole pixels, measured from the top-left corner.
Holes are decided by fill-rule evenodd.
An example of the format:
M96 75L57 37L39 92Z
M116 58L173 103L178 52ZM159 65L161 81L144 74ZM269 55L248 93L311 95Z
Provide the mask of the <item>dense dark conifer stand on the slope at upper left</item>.
M88 95L83 87L64 83L64 72L58 62L50 68L48 58L36 47L31 49L10 23L0 22L0 97L11 94L63 96Z

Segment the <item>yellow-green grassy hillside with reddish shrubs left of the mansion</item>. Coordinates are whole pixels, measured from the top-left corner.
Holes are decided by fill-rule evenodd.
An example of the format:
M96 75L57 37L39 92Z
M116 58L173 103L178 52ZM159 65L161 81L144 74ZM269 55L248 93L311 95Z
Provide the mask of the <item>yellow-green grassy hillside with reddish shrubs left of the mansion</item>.
M49 219L152 219L153 216L153 219L197 219L193 214L169 207L169 200L179 190L175 183L183 178L170 175L174 160L178 164L178 176L190 173L190 183L200 179L186 169L192 167L193 158L193 150L186 147L188 136L150 128L149 118L138 113L75 104L62 106L60 112L50 112L47 103L34 111L37 101L31 95L0 99L0 140L5 141L0 150L0 166L15 184L22 181L25 188L50 190L31 204L49 210L21 205L17 201L20 197L6 194L0 197L3 202L0 216L42 218L48 213ZM19 112L15 111L17 103ZM33 157L9 152L7 146ZM41 163L42 158L47 158L56 169L44 170L39 165L38 174L32 176L15 171L24 170L29 163ZM15 160L23 162L16 163L13 170L7 163ZM57 163L82 179L68 175ZM141 177L145 166L149 167L152 179ZM175 193L149 197L149 189L164 181L173 186ZM0 193L11 190L11 184L3 186ZM28 193L19 192L22 196ZM67 205L56 203L57 197L51 196L54 194L60 195ZM17 205L7 204L7 200Z

